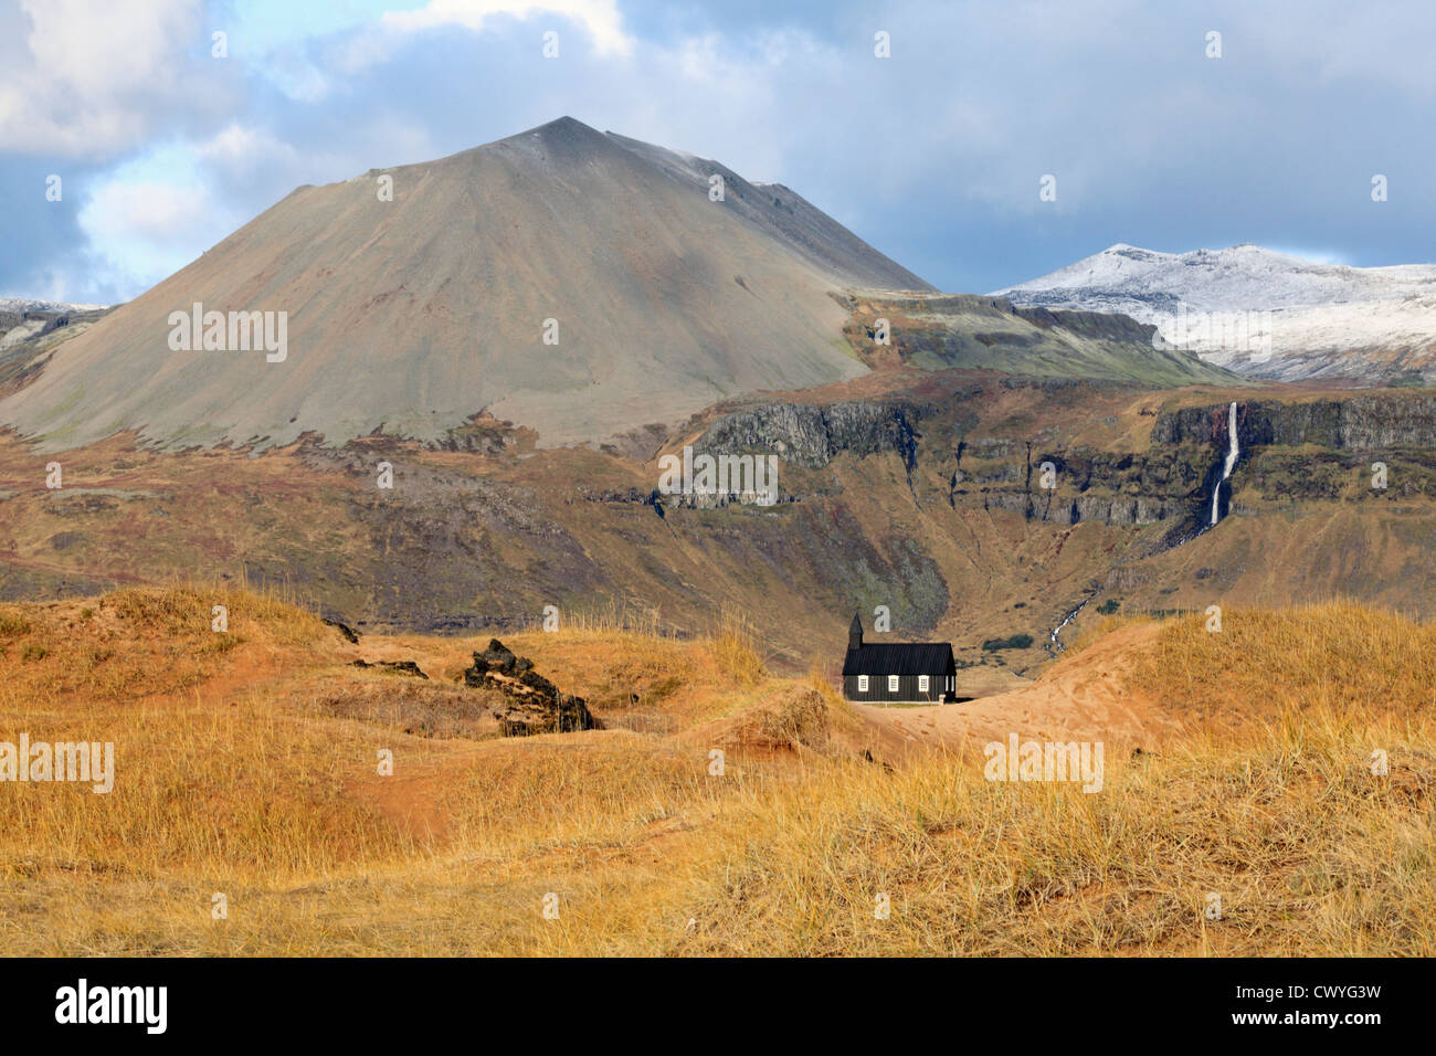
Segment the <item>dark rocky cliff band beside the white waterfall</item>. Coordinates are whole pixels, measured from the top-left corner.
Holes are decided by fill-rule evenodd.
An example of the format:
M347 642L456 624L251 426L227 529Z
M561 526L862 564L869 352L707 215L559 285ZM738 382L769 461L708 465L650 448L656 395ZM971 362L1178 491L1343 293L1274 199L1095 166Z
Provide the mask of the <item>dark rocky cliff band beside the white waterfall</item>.
M1014 384L994 388L1010 392ZM1045 399L1080 399L1087 391L1063 381L1017 388L1037 389ZM952 509L1007 510L1055 524L1162 522L1169 530L1159 546L1185 542L1211 522L1212 491L1228 450L1229 404L1159 412L1146 451L1117 453L1053 443L1037 422L985 435L991 427L979 425L965 407L985 398L984 389L968 386L954 395L951 404L760 404L717 420L696 445L714 454L773 453L784 466L808 470L844 454L892 453L919 504L935 488ZM1397 391L1304 402L1238 401L1236 428L1241 457L1234 487L1246 490L1245 511L1255 500L1279 504L1346 494L1376 461L1399 470L1390 474L1386 497L1436 493L1436 397ZM817 494L814 487L823 490L788 474L783 500L803 501ZM1223 488L1219 496L1223 517L1231 494L1232 488Z

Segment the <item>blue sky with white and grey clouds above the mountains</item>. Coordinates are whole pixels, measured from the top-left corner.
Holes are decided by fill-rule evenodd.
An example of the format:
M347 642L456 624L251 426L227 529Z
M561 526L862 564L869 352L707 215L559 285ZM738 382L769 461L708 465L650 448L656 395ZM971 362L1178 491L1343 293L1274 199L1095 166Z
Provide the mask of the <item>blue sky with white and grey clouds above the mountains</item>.
M1429 0L0 0L0 296L126 300L302 184L563 115L949 292L1114 243L1426 263L1433 47Z

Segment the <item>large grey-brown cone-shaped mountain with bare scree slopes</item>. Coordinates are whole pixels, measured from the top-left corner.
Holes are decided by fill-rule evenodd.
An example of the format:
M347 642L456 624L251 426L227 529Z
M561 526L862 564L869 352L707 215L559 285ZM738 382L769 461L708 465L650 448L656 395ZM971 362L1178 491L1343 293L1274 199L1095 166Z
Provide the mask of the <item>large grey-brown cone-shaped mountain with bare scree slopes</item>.
M267 447L438 440L488 411L544 445L600 441L863 374L846 289L932 287L785 187L561 118L300 187L55 349L0 422L50 450L123 430ZM283 361L172 349L197 303L284 312Z

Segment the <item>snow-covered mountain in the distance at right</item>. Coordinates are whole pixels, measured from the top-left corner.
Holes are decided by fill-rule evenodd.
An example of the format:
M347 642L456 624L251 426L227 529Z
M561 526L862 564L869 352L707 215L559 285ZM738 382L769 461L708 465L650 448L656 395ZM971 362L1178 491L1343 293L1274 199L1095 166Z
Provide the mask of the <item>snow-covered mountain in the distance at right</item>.
M1246 374L1436 381L1436 264L1347 267L1242 244L1157 253L1119 243L994 296L1122 312Z

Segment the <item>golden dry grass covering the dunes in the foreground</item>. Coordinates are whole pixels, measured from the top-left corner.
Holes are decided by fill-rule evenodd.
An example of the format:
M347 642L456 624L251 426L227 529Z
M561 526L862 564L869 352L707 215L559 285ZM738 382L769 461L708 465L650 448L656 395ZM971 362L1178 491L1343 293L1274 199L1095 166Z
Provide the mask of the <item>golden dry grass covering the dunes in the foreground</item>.
M741 628L505 636L610 728L408 734L312 707L408 682L346 668L356 649L277 599L225 598L223 649L205 588L0 608L0 738L113 740L118 770L108 796L0 784L9 953L1436 953L1436 651L1399 616L1172 621L1133 687L1213 721L1109 756L1084 795L989 783L981 757L870 761L831 685L767 675ZM485 641L360 649L451 680ZM638 711L666 723L609 721Z

